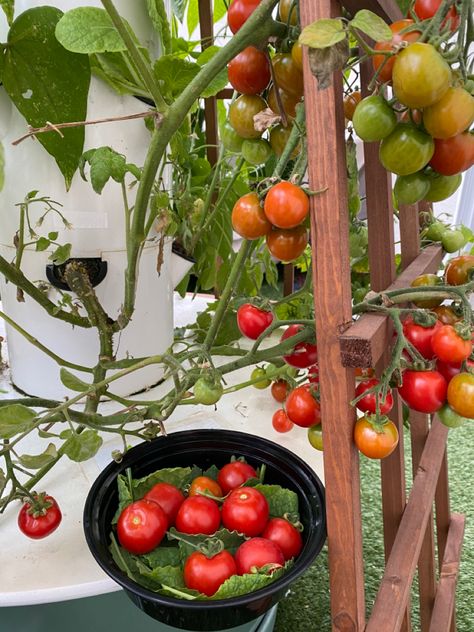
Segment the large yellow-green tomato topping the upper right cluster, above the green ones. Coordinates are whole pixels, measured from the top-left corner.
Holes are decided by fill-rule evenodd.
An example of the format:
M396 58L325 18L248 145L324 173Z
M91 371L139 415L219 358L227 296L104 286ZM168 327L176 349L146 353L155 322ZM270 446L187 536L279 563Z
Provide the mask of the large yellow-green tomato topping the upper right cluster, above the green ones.
M414 42L398 53L392 79L400 103L409 108L426 108L448 90L451 69L434 46Z

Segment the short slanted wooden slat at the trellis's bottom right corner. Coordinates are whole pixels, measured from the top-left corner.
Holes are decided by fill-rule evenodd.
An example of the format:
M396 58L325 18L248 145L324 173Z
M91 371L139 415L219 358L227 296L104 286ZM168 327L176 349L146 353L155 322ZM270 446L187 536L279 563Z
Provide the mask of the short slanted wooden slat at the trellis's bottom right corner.
M464 516L455 513L451 514L448 541L444 552L429 632L446 632L446 630L452 629L450 625L452 625L454 614L464 523Z

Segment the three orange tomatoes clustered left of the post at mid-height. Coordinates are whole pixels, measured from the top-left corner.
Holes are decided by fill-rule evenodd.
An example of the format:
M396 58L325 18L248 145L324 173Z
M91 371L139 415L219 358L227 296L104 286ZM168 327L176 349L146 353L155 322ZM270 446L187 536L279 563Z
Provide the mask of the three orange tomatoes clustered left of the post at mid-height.
M232 209L232 226L244 239L265 237L276 259L293 261L308 244L308 213L309 198L303 189L281 181L268 190L263 206L256 193L239 198Z

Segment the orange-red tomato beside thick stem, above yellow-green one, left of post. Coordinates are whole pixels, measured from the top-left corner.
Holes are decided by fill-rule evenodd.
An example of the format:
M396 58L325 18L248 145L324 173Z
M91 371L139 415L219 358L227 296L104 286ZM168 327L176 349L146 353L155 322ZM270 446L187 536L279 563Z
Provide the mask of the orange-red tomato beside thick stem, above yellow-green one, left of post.
M255 46L244 48L229 63L227 70L231 86L242 94L258 94L270 83L268 59Z

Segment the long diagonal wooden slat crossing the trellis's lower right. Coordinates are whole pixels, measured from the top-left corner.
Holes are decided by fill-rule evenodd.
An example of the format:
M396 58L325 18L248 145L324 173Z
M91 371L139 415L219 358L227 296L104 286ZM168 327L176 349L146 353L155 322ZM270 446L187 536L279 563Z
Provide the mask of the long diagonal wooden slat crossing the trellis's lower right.
M438 419L426 440L407 506L385 567L366 632L398 632L432 511L448 428Z

